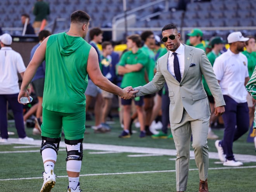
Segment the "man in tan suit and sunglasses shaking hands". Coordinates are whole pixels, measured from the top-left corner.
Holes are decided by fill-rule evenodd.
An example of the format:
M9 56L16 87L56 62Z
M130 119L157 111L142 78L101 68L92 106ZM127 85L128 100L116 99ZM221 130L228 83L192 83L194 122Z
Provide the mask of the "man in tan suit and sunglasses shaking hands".
M137 96L160 90L166 81L170 97L171 132L177 150L176 189L187 190L189 173L190 137L195 162L199 169L199 192L208 192L208 146L210 107L202 85L202 75L215 99L215 115L225 112L225 102L213 67L203 50L180 43L180 33L175 25L168 24L162 29L162 41L168 52L157 61L157 72L152 81L139 86Z

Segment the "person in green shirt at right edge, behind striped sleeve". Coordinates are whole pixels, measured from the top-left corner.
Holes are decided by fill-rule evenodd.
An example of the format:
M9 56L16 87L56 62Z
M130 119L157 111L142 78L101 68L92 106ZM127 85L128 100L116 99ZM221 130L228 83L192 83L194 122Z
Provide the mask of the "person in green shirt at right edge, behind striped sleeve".
M242 52L242 54L246 55L248 60L248 72L249 77L251 78L254 68L256 66L256 47L255 47L255 38L254 36L247 36L249 40L246 42L246 50ZM255 100L251 95L248 93L247 95L247 104L249 107L249 118L250 118L250 126L253 124L254 119L254 107L255 107Z

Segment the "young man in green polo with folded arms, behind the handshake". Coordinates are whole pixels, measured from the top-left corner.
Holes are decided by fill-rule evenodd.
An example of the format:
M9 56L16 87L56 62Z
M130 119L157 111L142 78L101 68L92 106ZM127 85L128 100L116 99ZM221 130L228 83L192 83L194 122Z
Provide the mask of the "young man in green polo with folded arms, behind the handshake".
M148 55L146 55L141 49L141 38L139 35L130 35L127 37L127 48L130 49L126 51L118 63L118 74L123 75L123 80L121 82L121 88L131 85L142 86L146 84L145 80L145 66L149 60ZM131 121L131 99L124 100L121 99L121 104L124 109L123 123L124 130L119 135L119 138L129 138L130 137L130 121ZM135 106L138 114L138 121L140 122L140 138L145 137L145 111L144 111L144 100L143 97L136 97Z

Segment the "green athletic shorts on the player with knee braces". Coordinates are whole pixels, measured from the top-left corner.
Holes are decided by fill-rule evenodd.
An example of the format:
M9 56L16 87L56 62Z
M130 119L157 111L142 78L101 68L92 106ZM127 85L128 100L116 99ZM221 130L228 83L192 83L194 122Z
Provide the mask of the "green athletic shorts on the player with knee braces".
M76 113L50 111L43 108L42 136L61 137L62 127L67 140L78 140L85 133L85 110Z

